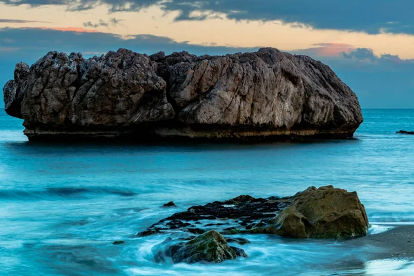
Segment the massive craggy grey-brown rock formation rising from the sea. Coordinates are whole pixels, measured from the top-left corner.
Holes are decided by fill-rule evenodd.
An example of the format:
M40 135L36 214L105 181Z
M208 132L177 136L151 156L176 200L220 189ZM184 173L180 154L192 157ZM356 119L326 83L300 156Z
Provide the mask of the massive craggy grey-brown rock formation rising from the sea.
M273 48L220 57L49 52L17 64L3 93L33 140L348 138L362 122L357 97L331 68Z

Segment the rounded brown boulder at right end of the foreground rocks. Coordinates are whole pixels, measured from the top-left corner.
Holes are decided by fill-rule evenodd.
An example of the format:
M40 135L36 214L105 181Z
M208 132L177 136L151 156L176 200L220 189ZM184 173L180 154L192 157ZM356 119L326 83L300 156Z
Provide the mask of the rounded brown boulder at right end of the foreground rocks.
M356 192L325 186L311 187L283 199L290 204L271 226L255 233L273 233L284 237L339 238L358 237L368 231L368 217Z

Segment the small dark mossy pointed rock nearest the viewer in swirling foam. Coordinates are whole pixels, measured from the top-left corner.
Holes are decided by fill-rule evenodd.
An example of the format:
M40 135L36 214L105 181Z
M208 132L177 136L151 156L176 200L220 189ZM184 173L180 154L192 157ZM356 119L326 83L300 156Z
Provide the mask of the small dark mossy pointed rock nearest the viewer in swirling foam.
M196 262L220 263L226 259L247 257L241 248L228 246L226 239L215 230L210 230L203 235L186 243L175 244L167 248L166 257L171 257L172 262Z

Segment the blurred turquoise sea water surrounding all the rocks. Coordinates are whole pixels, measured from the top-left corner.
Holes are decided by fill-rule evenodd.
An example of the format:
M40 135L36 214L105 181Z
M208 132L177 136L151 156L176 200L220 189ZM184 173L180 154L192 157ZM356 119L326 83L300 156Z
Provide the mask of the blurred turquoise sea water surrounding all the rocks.
M414 273L335 240L247 236L246 259L188 265L153 261L166 236L130 238L193 205L328 184L357 191L372 233L414 224L414 135L395 133L414 130L414 110L363 113L352 140L138 145L29 144L0 110L0 275ZM167 201L179 207L159 208Z

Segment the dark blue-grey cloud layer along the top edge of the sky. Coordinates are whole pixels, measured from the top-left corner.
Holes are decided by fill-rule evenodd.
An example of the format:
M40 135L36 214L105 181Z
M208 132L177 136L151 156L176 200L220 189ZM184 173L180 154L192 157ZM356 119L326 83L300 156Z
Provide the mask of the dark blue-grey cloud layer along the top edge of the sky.
M159 5L166 12L179 11L176 20L204 20L211 12L230 19L282 20L297 28L314 26L379 33L382 30L414 34L414 1L411 0L0 0L9 5L60 5L85 10L105 3L111 12L134 11ZM194 16L194 11L204 12Z

